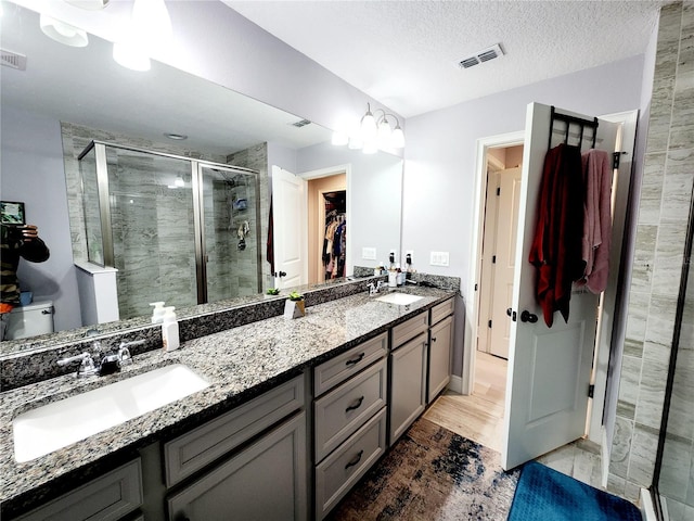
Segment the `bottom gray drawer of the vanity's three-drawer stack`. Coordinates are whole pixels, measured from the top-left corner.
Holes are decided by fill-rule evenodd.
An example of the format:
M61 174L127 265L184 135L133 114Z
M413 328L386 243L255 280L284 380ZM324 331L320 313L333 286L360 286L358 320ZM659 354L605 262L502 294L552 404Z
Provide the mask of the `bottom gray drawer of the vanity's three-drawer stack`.
M386 449L386 407L316 467L316 517L323 519Z

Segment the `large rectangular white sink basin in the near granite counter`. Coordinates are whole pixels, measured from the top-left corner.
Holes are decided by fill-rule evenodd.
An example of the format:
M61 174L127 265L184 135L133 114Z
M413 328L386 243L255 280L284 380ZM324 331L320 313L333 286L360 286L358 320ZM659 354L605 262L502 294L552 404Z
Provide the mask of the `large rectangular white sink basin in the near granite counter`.
M27 410L12 420L14 457L29 461L208 385L187 366L175 364Z

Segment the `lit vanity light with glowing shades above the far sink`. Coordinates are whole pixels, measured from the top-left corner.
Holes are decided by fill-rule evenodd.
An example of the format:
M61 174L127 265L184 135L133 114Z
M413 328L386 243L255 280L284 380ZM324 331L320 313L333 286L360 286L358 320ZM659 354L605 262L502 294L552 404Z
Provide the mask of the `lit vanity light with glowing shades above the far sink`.
M395 119L395 128L391 127ZM400 128L400 120L394 114L376 109L371 112L371 104L367 103L367 113L359 124L348 132L334 131L332 143L347 144L352 150L361 149L364 154L373 154L378 149L401 149L404 147L404 132Z

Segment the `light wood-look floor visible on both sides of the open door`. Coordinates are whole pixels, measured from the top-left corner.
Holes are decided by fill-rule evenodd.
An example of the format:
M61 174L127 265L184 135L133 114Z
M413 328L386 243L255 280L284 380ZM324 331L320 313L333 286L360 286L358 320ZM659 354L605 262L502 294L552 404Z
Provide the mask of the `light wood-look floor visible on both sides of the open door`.
M424 412L424 418L501 452L507 361L477 352L475 389L470 396L446 391ZM602 486L600 447L579 440L537 458L543 465L596 488Z

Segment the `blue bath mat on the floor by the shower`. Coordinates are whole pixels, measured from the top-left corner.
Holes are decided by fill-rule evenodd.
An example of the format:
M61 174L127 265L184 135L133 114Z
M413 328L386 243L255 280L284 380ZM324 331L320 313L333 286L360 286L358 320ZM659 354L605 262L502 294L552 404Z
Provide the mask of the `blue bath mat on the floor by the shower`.
M523 467L509 521L641 521L631 503L536 461Z

